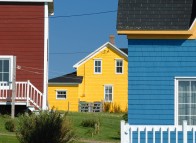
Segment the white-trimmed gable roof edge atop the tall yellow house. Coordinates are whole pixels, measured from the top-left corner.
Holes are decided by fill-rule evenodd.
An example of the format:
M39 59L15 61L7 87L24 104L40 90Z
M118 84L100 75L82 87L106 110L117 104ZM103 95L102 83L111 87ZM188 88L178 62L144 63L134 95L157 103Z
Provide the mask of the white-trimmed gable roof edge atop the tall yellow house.
M80 65L82 65L83 63L85 63L86 61L88 61L89 59L91 59L92 57L94 57L96 54L98 54L100 51L103 51L107 47L113 49L114 51L118 52L120 55L122 55L123 57L125 57L127 59L127 57L128 57L127 53L121 51L119 48L117 48L116 46L114 46L110 42L107 42L104 45L102 45L101 47L99 47L98 49L96 49L94 52L90 53L88 56L86 56L85 58L83 58L82 60L77 62L73 67L78 68Z

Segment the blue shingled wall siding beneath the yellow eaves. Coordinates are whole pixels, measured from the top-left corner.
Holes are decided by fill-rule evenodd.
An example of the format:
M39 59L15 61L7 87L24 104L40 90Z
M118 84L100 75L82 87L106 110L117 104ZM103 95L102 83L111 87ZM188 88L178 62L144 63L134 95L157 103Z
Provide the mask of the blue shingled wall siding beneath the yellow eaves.
M174 124L174 79L196 76L196 40L128 41L128 122Z

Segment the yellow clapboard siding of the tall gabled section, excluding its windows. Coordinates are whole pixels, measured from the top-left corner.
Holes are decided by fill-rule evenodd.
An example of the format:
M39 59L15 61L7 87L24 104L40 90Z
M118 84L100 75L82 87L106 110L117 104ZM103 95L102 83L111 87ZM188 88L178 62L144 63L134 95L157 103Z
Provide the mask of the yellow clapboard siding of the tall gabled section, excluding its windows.
M83 82L79 85L79 97L81 101L103 101L104 85L113 86L113 103L120 105L122 110L127 109L128 102L128 62L116 51L106 48L77 68L77 75L83 76ZM102 60L102 73L94 74L94 60ZM115 73L115 59L123 59L123 74Z

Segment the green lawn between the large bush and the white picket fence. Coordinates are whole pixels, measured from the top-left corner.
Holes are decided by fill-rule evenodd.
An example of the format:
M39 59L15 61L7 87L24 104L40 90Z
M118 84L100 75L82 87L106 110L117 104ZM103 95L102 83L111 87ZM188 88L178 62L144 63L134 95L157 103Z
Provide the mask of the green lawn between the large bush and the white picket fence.
M81 122L86 118L98 118L100 120L99 134L92 136L92 128L82 127ZM69 113L68 119L71 120L76 134L79 138L97 141L120 141L120 120L122 114L110 113Z

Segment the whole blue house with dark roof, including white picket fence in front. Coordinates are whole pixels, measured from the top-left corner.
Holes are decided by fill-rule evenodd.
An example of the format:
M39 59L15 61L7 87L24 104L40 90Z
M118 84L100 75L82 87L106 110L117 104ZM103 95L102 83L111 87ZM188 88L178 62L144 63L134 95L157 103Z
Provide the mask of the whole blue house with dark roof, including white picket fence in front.
M128 39L121 142L196 142L196 0L119 0Z

